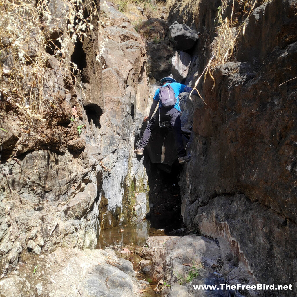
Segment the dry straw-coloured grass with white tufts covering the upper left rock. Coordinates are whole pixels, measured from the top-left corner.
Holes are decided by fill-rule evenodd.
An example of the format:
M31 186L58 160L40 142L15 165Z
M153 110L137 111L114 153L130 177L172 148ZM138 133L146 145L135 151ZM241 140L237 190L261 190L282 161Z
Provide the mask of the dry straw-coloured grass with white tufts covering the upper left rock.
M71 81L77 65L70 61L69 48L74 48L76 41L87 37L86 32L92 29L92 15L97 13L93 7L89 4L91 14L84 18L86 6L80 0L64 0L67 22L61 27L61 22L51 15L46 0L40 0L37 5L35 0L0 0L1 101L18 106L32 127L46 120L55 106L53 92L50 99L44 96L49 56L46 46L52 48L64 81ZM59 37L48 40L53 31Z

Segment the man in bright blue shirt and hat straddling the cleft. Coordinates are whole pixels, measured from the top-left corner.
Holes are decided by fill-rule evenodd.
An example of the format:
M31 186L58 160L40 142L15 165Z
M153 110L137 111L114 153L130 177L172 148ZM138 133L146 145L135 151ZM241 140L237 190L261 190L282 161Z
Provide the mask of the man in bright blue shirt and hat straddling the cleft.
M175 79L170 76L162 78L160 80L161 86L169 85L172 87L175 96L176 103L172 108L165 108L160 101L160 89L157 89L154 95L154 100L151 105L151 109L149 112L149 116L146 116L143 121L149 120L149 124L147 125L145 131L143 132L143 136L139 141L138 148L134 150L134 152L138 155L143 155L143 149L147 146L149 139L151 137L151 132L158 127L163 121L169 121L170 127L173 129L174 140L176 145L177 157L179 164L183 164L190 160L190 156L186 156L186 151L184 149L182 134L181 134L181 119L179 117L179 113L181 112L179 104L178 104L178 95L182 92L190 92L192 88L189 88L181 83L177 83ZM197 91L193 92L194 95L198 95ZM159 102L159 108L157 112L152 117L157 105Z

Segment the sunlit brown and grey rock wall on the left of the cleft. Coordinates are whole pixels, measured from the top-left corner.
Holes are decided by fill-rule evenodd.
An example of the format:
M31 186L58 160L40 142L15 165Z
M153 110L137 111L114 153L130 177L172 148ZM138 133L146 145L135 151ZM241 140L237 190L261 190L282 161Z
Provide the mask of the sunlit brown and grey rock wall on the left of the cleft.
M62 2L48 4L61 26ZM0 275L15 269L22 252L94 248L102 205L115 223L127 220L124 192L133 178L146 184L142 163L132 160L148 108L144 45L119 11L105 2L97 11L93 29L69 48L81 70L76 82L56 80L60 70L48 50L52 105L59 94L51 121L23 132L23 114L1 97L1 128L9 132L0 164Z

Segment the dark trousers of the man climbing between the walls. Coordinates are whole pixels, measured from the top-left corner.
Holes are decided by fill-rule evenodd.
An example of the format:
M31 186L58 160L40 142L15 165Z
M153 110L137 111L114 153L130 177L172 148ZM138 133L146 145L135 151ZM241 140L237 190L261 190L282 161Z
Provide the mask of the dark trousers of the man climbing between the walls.
M182 157L185 155L185 149L183 144L183 138L181 135L181 119L179 117L179 112L176 108L164 108L161 106L160 110L160 121L161 123L164 121L169 121L170 127L173 129L174 133L174 140L175 140L175 146L177 151L177 156ZM142 138L139 141L138 147L139 148L145 148L149 142L149 139L151 137L151 132L156 129L159 126L159 107L157 112L154 114L154 116L149 121L149 124L147 125L146 129L143 132Z

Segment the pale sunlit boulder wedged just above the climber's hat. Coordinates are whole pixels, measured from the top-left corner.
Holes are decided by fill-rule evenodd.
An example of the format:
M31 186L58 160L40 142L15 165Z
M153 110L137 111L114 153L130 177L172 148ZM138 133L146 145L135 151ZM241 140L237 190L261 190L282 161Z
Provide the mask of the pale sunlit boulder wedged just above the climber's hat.
M172 57L171 61L172 76L175 80L180 82L181 80L187 77L191 63L191 56L188 53L177 50L174 56Z

